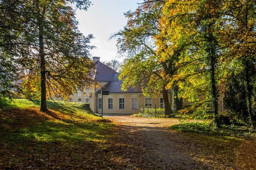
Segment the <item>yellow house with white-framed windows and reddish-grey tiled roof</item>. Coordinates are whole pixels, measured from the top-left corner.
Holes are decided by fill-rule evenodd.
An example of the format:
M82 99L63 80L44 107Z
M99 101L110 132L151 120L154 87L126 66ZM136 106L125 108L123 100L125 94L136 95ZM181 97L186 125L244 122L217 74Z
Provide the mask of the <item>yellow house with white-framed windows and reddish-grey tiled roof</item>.
M157 97L144 96L141 89L128 88L128 91L121 90L122 80L118 79L119 73L109 68L102 62L100 57L93 57L96 62L96 74L94 79L99 82L103 91L109 91L109 95L101 94L101 89L94 88L87 92L78 91L70 96L70 102L90 103L90 108L95 113L139 113L139 106L163 107L163 94ZM86 95L90 94L90 95ZM85 95L84 95L85 94ZM169 101L171 94L169 93Z

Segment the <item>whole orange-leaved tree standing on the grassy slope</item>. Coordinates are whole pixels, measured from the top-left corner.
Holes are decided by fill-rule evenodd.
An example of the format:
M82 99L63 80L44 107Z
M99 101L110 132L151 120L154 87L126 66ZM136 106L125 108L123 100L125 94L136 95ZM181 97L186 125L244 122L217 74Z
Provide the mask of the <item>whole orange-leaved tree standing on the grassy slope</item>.
M88 57L88 50L93 48L88 43L93 36L84 37L79 32L72 4L76 8L87 9L90 2L13 0L14 8L9 10L6 2L6 10L3 10L4 16L10 12L19 14L21 17L18 19L23 20L16 27L10 29L5 26L5 29L11 34L16 33L18 42L28 51L26 55L18 57L22 63L15 64L19 66L23 79L28 79L24 87L40 80L41 111L47 111L47 97L67 99L77 88L83 90L94 83L91 77L94 64ZM7 44L5 48L9 46Z

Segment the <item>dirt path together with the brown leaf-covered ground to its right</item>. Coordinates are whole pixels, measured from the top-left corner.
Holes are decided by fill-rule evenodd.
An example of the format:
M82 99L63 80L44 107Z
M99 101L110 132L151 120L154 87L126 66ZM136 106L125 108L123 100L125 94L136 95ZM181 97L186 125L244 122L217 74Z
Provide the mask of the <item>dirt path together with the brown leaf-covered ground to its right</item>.
M150 168L170 170L255 170L256 140L251 138L180 133L169 130L175 119L108 117L119 122L121 132L136 139L146 150L139 158L151 157ZM125 134L125 133L124 133ZM128 140L127 140L127 143ZM157 161L158 160L158 161ZM150 165L148 163L148 165Z

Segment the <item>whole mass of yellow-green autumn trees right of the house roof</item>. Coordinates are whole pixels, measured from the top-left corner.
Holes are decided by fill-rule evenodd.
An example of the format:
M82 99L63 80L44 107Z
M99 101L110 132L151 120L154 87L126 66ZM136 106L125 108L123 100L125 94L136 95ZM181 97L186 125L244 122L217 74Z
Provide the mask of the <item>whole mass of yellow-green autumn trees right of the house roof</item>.
M210 102L218 126L218 96L228 93L231 74L243 74L239 81L255 127L255 7L251 0L145 0L125 13L128 23L114 35L127 57L123 89L143 85L143 93L151 95L178 89L193 109Z

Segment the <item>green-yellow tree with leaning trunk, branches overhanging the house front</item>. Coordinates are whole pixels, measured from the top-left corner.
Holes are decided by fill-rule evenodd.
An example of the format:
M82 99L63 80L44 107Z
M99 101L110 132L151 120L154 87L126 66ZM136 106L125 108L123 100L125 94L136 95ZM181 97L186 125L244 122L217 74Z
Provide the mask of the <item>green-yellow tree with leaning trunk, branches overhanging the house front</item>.
M163 92L165 114L172 113L168 99L168 88L163 75L169 74L171 62L159 61L154 36L159 34L158 20L161 17L163 1L145 1L136 11L128 11L125 28L113 37L117 39L120 54L126 59L119 79L123 79L122 90L129 86L142 88L143 94L156 96Z

